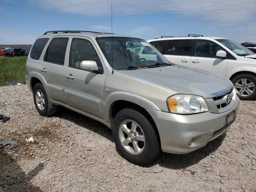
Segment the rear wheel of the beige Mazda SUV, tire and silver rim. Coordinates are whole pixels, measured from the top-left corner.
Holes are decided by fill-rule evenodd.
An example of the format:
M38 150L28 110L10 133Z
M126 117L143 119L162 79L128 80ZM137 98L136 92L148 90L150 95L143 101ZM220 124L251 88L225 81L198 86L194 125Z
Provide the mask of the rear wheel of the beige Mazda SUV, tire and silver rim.
M42 83L37 83L34 86L33 95L36 109L40 115L50 116L56 112L56 106L49 101L48 95L46 94Z

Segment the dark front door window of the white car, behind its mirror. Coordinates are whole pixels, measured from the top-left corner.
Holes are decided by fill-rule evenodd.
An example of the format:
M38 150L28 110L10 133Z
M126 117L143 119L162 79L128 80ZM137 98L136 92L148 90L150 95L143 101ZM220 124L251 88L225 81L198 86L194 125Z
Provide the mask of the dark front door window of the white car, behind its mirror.
M214 42L197 40L194 56L216 58L217 51L222 51L222 48Z

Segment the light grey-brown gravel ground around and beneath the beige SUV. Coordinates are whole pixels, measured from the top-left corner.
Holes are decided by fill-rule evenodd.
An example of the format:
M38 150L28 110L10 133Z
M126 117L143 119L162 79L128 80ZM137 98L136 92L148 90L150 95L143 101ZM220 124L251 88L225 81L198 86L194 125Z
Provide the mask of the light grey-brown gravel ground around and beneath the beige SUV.
M64 108L42 117L26 85L0 87L0 114L11 117L0 123L0 140L22 143L0 148L0 191L256 192L255 109L256 101L242 101L226 134L140 167L118 154L103 124Z

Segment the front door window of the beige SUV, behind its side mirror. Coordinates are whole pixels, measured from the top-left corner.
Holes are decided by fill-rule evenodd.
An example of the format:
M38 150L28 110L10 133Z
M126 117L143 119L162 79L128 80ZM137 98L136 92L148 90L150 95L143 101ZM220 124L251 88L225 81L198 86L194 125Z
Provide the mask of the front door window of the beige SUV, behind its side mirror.
M84 60L95 61L98 67L101 66L100 58L91 42L84 39L73 39L70 47L68 66L80 68L80 62Z

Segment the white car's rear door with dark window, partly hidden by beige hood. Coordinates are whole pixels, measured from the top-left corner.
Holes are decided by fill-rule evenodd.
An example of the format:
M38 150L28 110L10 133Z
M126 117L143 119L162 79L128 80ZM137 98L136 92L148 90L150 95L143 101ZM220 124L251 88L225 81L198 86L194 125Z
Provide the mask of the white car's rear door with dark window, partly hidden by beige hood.
M172 63L190 66L193 39L168 40L164 56Z

